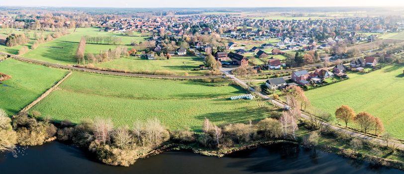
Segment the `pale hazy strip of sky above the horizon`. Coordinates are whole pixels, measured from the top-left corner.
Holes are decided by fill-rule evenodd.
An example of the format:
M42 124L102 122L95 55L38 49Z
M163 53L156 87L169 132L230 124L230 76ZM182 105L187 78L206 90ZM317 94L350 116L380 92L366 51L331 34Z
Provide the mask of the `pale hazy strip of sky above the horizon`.
M0 0L0 6L85 6L85 7L404 6L404 0Z

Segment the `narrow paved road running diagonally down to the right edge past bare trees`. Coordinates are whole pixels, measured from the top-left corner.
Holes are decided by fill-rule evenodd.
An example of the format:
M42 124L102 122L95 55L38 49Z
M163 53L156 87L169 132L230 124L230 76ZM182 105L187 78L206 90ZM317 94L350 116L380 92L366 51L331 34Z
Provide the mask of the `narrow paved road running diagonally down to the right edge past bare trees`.
M222 71L223 71L223 70L222 70ZM243 87L248 87L247 84L246 84L244 81L238 79L238 78L235 77L234 75L231 75L229 72L223 71L223 73L224 73L227 77L229 77L229 78L231 78L233 81L235 81L236 83L240 84L241 86L243 86ZM286 104L283 103L282 101L272 99L271 97L269 97L268 95L263 94L262 92L257 92L257 91L255 91L255 89L252 88L252 87L249 87L249 88L250 88L250 91L255 92L256 94L258 94L258 95L261 96L262 98L271 101L274 105L277 105L277 106L279 106L279 107L281 107L281 108L285 108L285 105L286 105ZM311 119L311 117L308 116L308 115L306 115L305 113L302 113L301 116L302 116L302 118L304 118L304 119ZM371 137L371 136L367 136L367 135L364 135L364 134L361 133L361 132L356 132L356 131L353 131L353 130L344 129L344 128L341 128L341 127L338 127L338 126L334 126L334 125L329 124L329 123L326 123L325 125L329 126L331 129L334 129L334 130L339 131L339 132L344 132L344 133L349 134L349 135L351 135L351 136L353 136L353 137L359 137L359 138L362 138L362 139L365 139L365 140L370 140L370 141L373 141L373 142L375 142L375 143L379 143L379 144L381 144L381 145L386 145L386 141L385 141L385 140L382 140L382 139L379 139L379 138L375 138L375 137ZM389 142L389 146L391 146L392 144L394 144L395 146L397 146L399 149L404 150L404 144L403 144L403 143L400 143L400 142L398 142L398 141Z

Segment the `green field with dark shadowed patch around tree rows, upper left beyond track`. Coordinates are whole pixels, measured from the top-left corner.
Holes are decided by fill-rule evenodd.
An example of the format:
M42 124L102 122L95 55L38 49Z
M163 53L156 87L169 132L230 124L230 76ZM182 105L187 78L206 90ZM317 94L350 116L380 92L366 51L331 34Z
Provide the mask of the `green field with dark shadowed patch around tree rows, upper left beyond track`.
M54 39L51 42L41 44L37 49L32 50L23 56L26 58L41 60L45 62L71 65L77 64L75 57L77 47L82 36L113 36L119 37L122 40L122 45L128 45L134 40L136 43L144 41L145 37L141 37L139 33L136 36L122 36L121 34L99 31L99 28L77 28L76 32ZM86 54L99 54L100 51L114 49L117 45L101 45L101 44L86 44ZM128 49L131 46L126 46Z

